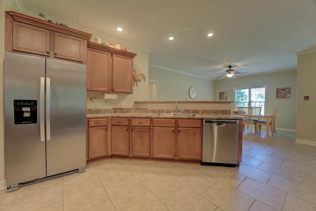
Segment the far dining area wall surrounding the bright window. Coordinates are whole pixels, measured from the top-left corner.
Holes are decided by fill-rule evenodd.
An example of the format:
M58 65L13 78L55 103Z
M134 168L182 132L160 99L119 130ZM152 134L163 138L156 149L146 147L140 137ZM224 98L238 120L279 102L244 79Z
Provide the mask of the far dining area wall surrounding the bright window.
M277 129L296 130L296 99L297 83L296 70L275 72L255 76L243 76L235 79L226 79L215 82L215 100L219 99L220 91L228 91L228 100L234 101L234 87L251 85L267 85L267 107L266 114L272 114L275 107L279 107L276 117ZM291 87L290 98L276 98L276 88Z

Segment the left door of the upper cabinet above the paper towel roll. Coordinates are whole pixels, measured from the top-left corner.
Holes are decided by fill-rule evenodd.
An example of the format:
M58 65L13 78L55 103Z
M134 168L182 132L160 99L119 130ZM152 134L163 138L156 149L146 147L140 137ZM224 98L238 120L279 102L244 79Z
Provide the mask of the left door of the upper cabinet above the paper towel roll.
M87 90L111 91L111 53L88 48Z

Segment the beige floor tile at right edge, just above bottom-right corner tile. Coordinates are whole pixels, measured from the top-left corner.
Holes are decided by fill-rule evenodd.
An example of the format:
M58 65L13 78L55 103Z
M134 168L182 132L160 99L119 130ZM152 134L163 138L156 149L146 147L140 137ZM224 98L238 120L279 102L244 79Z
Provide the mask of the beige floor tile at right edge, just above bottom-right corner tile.
M316 188L273 175L268 185L316 204Z

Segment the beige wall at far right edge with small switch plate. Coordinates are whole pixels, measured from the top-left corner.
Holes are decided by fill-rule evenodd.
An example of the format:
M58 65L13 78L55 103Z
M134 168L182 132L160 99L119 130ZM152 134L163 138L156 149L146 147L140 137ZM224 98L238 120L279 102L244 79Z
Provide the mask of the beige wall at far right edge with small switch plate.
M297 57L297 133L296 142L316 145L316 52ZM304 100L309 96L310 100Z

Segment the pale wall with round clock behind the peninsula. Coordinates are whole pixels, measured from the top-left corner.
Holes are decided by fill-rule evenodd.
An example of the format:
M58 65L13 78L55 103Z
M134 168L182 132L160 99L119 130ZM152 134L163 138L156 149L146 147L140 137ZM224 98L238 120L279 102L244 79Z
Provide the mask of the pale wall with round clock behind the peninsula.
M158 81L157 100L214 100L214 82L181 73L149 67L149 78ZM189 97L190 86L197 88L197 97Z

